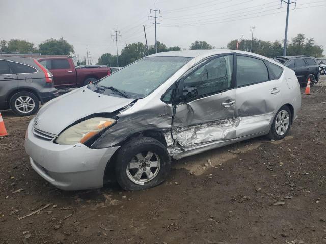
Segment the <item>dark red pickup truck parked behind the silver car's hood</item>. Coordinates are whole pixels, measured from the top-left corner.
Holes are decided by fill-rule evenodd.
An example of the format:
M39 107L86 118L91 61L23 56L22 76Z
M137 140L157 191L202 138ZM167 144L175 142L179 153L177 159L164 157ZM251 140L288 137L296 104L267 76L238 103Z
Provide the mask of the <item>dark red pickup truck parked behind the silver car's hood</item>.
M59 89L82 87L111 74L108 67L76 68L71 58L46 57L38 61L53 74L54 85Z

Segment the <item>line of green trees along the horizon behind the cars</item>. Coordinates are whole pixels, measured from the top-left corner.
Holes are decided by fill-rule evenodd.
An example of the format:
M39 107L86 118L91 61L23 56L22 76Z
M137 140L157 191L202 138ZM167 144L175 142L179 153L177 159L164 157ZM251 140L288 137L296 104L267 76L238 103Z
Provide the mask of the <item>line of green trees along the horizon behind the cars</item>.
M238 43L239 42L239 43ZM282 41L263 41L257 38L231 40L227 44L227 49L250 51L252 42L252 52L266 57L276 57L283 55ZM198 41L191 43L189 49L215 49L214 45L206 41ZM221 47L224 48L224 47ZM179 46L167 47L164 43L157 42L157 52L178 51ZM183 49L186 50L186 49ZM72 55L74 53L73 45L68 43L63 38L48 39L35 47L34 43L25 40L11 39L10 41L0 40L0 53L40 53L41 55ZM323 47L316 45L313 38L306 38L304 34L298 34L288 42L287 55L307 55L314 57L323 57ZM125 66L144 56L154 54L155 45L149 45L148 48L142 42L131 43L121 50L119 55L119 65ZM98 59L98 64L117 66L117 56L111 53L104 53Z

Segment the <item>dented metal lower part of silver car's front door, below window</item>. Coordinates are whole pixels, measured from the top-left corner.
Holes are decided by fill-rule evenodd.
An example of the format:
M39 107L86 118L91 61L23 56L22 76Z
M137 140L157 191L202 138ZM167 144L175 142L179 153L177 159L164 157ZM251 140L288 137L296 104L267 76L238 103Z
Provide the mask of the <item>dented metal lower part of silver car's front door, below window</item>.
M235 106L222 103L235 100L235 89L177 105L172 136L182 149L202 143L236 138Z

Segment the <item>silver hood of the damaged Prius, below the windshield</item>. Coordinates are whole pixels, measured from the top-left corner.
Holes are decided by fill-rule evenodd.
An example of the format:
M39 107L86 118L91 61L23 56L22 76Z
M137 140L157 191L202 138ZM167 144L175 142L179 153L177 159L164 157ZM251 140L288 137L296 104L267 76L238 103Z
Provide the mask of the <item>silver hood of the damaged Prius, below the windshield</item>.
M75 121L95 113L111 113L130 104L133 99L103 95L82 87L45 104L34 121L35 128L59 135Z

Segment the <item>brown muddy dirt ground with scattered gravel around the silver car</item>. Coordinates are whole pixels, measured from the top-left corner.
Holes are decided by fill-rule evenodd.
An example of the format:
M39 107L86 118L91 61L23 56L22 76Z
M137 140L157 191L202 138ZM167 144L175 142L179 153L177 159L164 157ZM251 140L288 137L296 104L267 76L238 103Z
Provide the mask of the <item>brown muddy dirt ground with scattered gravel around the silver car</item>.
M31 117L4 111L11 136L0 138L0 244L326 243L325 83L302 95L282 141L256 138L175 161L164 184L140 192L52 187L24 151Z

